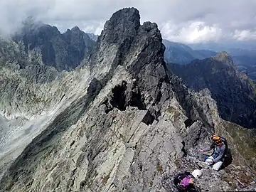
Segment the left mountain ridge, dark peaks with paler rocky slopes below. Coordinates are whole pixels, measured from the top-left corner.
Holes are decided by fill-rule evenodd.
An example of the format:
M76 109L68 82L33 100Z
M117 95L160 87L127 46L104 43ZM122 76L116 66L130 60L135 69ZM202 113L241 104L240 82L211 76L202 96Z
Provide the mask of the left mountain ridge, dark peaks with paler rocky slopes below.
M65 70L84 63L95 42L78 27L61 34L55 26L28 18L21 31L11 38L1 38L0 45L0 113L7 119L22 115L29 119L66 95L72 80L63 87L69 83L64 79L74 72ZM58 86L63 91L56 93ZM50 99L53 95L56 100Z

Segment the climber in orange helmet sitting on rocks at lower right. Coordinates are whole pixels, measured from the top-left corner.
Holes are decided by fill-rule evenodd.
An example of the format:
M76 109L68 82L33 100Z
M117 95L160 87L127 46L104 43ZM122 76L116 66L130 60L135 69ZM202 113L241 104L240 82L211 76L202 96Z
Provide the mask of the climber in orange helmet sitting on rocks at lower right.
M225 138L220 137L218 134L213 134L211 137L213 144L211 144L206 149L199 149L199 152L210 151L213 149L213 153L206 159L206 164L208 166L213 166L213 170L219 171L220 167L223 165L225 159L225 154L228 151L228 144Z

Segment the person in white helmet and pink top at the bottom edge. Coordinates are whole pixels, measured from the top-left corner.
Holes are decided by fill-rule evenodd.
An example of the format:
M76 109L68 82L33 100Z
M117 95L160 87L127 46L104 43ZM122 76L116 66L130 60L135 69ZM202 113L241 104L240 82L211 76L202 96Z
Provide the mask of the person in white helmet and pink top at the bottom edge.
M197 191L194 186L194 178L199 178L202 175L202 171L195 169L192 173L184 171L174 177L174 185L178 191Z

